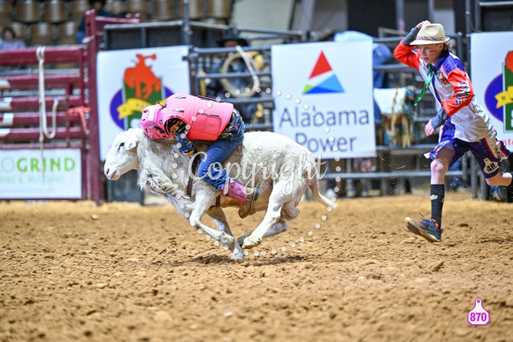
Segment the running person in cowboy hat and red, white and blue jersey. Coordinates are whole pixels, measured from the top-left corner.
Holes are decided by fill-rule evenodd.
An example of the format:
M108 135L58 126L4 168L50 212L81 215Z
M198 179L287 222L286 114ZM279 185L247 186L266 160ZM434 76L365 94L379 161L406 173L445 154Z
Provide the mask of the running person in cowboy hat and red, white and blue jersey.
M425 20L413 27L394 49L394 56L403 64L416 68L425 80L417 102L427 88L436 99L438 114L425 125L428 136L441 126L439 143L426 154L432 159L431 218L405 219L410 232L430 242L440 242L441 239L445 174L467 151L471 151L478 161L486 184L513 186L513 174L499 172L501 160L508 158L511 152L496 139L497 133L488 113L477 103L469 75L459 58L449 52L448 41L440 24Z

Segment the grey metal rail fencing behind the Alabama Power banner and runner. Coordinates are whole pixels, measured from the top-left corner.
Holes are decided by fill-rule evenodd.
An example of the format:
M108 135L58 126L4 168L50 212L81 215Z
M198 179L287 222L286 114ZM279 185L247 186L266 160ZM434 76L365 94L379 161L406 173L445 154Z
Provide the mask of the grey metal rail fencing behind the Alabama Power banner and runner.
M239 28L239 32L244 32L244 28ZM288 32L287 34L283 32L263 32L260 33L262 35L256 36L258 40L265 39L295 39L298 42L302 42L304 37L300 34L295 35L295 33ZM455 46L457 49L457 54L465 56L463 51L463 35L455 34L452 35L451 38L456 42ZM401 37L392 36L392 37L380 37L374 38L374 42L387 44L391 49L394 49L394 46L400 42ZM260 56L264 56L264 59L271 59L271 47L243 47L242 48L246 53L249 54L259 54ZM193 85L193 92L198 95L205 95L205 82L209 80L234 80L237 78L246 78L249 79L253 75L251 72L211 72L210 66L213 65L212 60L215 58L226 59L230 56L230 54L237 53L238 50L235 48L193 48L190 50L188 55L188 60L191 63L191 68L194 72L191 73L191 84ZM387 72L388 77L394 79L392 82L392 87L405 87L409 85L407 82L417 83L418 80L415 77L415 71L413 71L410 67L401 64L389 64L389 65L377 65L374 67L374 71L376 72ZM260 70L255 72L255 74L261 80L261 92L257 96L241 96L233 95L230 98L227 98L226 101L230 103L234 103L235 105L244 105L248 103L259 103L262 105L264 109L264 115L261 118L253 118L251 122L246 125L247 131L272 131L272 119L269 113L273 110L273 100L272 94L270 92L266 92L266 90L270 90L272 87L272 73L270 68L266 68L264 70ZM408 77L404 77L404 75L408 75ZM422 87L422 85L417 85L417 95ZM227 90L226 93L229 93ZM433 108L434 103L433 99L429 99L429 96L425 96L423 98L421 107L422 112L419 113L419 117L415 119L414 125L421 127L425 125L425 122L431 116L434 115ZM432 115L433 114L433 115ZM382 132L382 123L377 123L377 132ZM378 139L380 141L380 139ZM426 179L431 176L431 172L429 171L429 167L426 167L419 160L420 158L424 158L422 156L425 152L428 152L433 148L433 144L423 143L423 141L413 141L412 144L407 147L394 146L383 144L381 140L381 144L377 146L377 155L375 158L375 167L373 171L369 172L361 172L356 171L352 165L351 160L326 160L325 162L325 175L324 179L336 184L337 187L341 185L341 183L345 183L345 186L350 186L350 184L358 179L376 179L379 180L380 184L380 194L391 194L392 188L390 184L390 179L394 180L397 183L404 183L407 179L414 178L422 178ZM414 159L412 162L412 169L410 170L401 170L396 171L392 165L397 162L402 162L405 159ZM474 166L472 165L473 159L469 159L468 156L463 157L462 169L457 171L448 171L447 176L448 179L452 177L459 177L463 179L463 182L467 183L469 180L471 182L472 194L474 197L478 196L478 188L479 188L479 175L477 172L475 174L471 174L470 171L474 171ZM472 168L471 168L472 166ZM480 194L483 193L483 188L480 189Z

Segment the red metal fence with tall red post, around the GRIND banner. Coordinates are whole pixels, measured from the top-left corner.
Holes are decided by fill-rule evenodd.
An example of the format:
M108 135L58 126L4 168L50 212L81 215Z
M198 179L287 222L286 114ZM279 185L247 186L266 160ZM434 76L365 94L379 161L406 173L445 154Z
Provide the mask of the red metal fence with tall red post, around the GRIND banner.
M103 27L109 23L135 23L134 19L86 14L87 42L83 45L44 47L0 52L0 149L39 150L27 165L41 171L44 183L50 168L61 161L46 160L45 152L62 148L80 150L80 191L50 199L103 199L96 103L96 54ZM11 160L11 159L10 159ZM64 163L64 162L63 162ZM76 163L76 162L73 162ZM6 162L5 167L11 168ZM22 171L24 169L21 169ZM48 175L47 175L48 176ZM43 194L16 199L47 199ZM9 198L4 198L9 199Z

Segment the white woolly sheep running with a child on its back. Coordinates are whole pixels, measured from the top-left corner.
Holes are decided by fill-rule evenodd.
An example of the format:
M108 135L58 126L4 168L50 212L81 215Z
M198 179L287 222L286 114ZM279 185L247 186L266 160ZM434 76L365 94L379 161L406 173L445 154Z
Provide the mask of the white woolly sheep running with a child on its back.
M285 220L299 215L296 206L307 187L315 200L326 207L336 206L318 192L318 165L310 151L277 133L245 133L243 143L223 167L231 179L260 189L249 214L262 210L266 213L255 231L234 239L222 208L238 207L241 214L248 210L245 207L248 203L241 204L221 195L220 206L216 205L221 190L197 178L191 166L193 157L182 155L176 145L172 139L153 141L141 129L119 133L105 160L105 176L115 180L127 171L138 170L142 190L164 196L195 229L202 229L229 247L233 259L243 259L241 244L249 249L259 245L264 237L287 231ZM205 150L201 143L196 148ZM192 179L192 191L187 194L189 179ZM201 222L204 214L214 220L218 230Z

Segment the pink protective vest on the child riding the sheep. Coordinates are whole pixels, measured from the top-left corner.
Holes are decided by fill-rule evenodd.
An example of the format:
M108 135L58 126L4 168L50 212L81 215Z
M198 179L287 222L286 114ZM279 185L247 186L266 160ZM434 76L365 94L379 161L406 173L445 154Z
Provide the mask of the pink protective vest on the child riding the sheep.
M190 126L188 140L217 141L232 118L234 105L187 94L165 100L165 118L180 118Z

